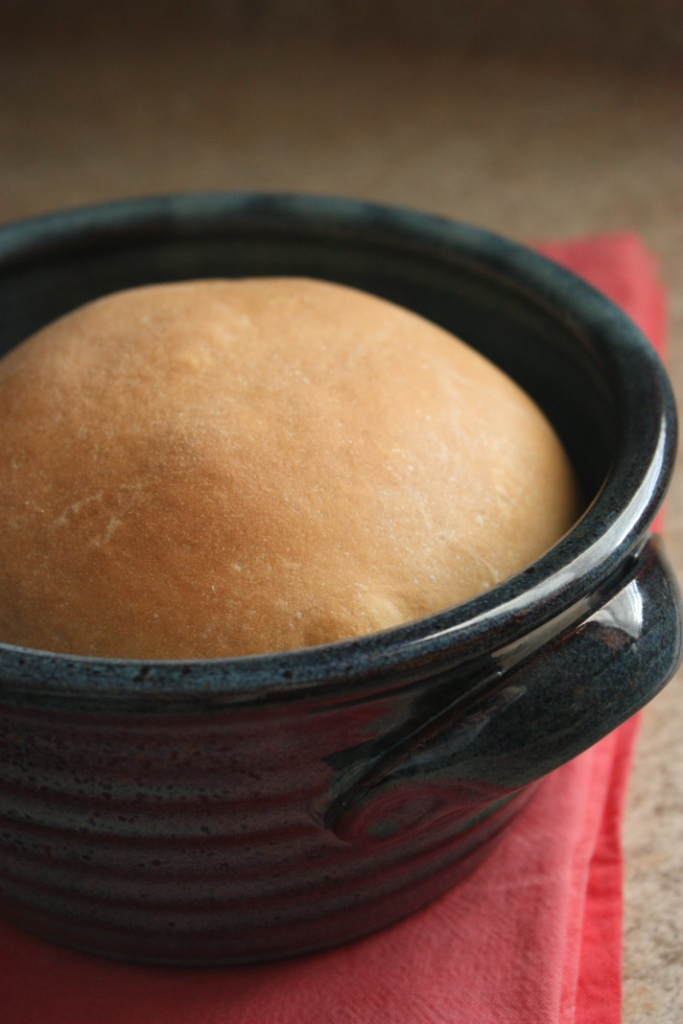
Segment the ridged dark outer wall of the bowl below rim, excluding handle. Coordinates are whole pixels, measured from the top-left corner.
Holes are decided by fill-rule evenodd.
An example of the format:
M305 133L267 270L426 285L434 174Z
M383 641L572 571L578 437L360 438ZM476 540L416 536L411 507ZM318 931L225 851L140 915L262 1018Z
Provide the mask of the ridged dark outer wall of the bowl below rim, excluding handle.
M331 741L375 708L130 717L5 714L3 915L139 961L281 956L402 916L471 868L515 808L353 847L311 814ZM519 799L519 798L518 798Z

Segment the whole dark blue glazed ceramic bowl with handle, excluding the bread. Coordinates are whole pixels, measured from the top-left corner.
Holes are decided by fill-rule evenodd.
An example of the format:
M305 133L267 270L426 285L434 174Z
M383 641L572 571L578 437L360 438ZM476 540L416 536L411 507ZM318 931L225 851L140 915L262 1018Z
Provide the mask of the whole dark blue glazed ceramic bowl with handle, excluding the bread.
M676 446L666 374L529 250L339 200L76 210L0 230L0 349L117 289L253 274L353 285L463 337L545 410L591 504L495 590L354 641L188 663L0 645L1 911L111 956L280 957L417 909L680 658L648 535Z

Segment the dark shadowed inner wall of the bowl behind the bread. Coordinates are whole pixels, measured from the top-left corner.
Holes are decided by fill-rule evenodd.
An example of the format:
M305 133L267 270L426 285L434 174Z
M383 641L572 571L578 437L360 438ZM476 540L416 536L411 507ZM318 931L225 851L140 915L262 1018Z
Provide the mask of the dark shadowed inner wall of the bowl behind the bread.
M379 246L311 227L283 231L201 225L182 232L119 231L53 246L0 274L0 352L100 295L199 278L304 275L350 285L407 306L467 341L544 410L584 496L599 490L615 447L607 375L580 332L494 270L447 265L409 247Z

